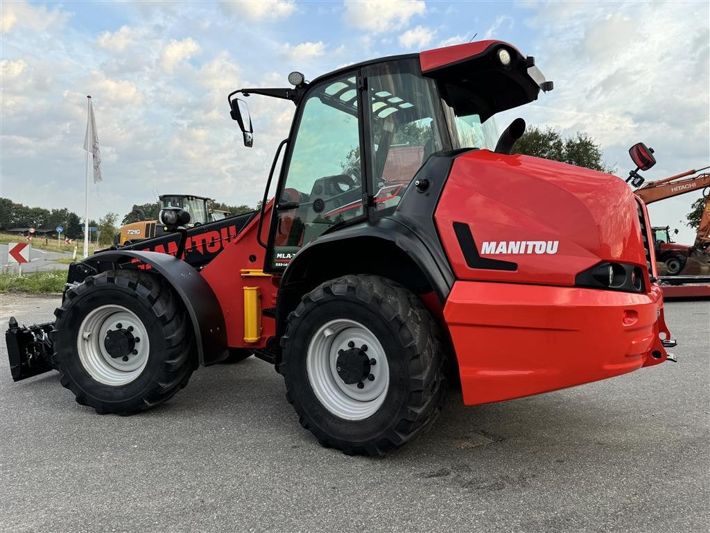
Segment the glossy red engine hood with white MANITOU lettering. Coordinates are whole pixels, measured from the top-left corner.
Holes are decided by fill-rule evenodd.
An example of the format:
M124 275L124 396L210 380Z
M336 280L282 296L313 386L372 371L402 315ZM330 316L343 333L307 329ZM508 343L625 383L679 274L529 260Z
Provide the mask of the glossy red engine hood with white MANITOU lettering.
M628 185L547 159L488 150L459 156L435 222L459 279L573 285L576 274L603 260L645 268ZM469 226L482 259L508 262L508 270L485 261L475 262L484 268L471 267L454 222Z

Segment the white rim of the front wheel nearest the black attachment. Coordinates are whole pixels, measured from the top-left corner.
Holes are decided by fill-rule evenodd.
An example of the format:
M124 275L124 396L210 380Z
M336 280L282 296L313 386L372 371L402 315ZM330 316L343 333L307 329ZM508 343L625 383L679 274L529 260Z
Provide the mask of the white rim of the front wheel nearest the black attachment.
M118 328L117 326L121 326ZM104 342L109 330L130 330L138 341L133 352L124 357L111 357ZM119 387L136 379L148 363L151 345L148 330L136 313L124 306L97 307L84 318L77 334L79 360L97 382ZM127 359L127 360L125 360Z

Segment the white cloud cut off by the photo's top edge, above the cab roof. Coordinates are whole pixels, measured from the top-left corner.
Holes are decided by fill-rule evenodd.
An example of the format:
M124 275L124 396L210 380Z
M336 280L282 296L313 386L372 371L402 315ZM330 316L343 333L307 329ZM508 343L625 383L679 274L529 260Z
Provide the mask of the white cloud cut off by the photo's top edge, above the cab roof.
M345 0L345 21L360 30L384 33L405 28L425 9L423 0Z

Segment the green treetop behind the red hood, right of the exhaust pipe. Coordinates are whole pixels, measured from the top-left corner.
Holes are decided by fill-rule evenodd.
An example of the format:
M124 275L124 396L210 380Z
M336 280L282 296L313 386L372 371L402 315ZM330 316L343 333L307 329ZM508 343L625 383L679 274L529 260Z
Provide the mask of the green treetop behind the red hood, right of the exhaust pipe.
M562 134L555 129L531 126L515 143L513 151L527 156L583 166L594 171L610 174L616 172L616 168L604 163L599 144L585 133L578 132L574 136L563 139Z

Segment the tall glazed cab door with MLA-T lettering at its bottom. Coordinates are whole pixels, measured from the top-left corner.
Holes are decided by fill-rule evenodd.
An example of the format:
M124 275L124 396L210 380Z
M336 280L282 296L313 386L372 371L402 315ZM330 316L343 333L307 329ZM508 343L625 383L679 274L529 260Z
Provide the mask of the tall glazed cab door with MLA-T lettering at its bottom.
M366 216L359 74L316 82L303 96L269 231L266 270L283 271L308 242Z

